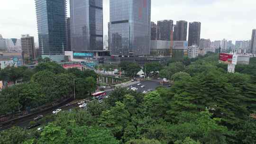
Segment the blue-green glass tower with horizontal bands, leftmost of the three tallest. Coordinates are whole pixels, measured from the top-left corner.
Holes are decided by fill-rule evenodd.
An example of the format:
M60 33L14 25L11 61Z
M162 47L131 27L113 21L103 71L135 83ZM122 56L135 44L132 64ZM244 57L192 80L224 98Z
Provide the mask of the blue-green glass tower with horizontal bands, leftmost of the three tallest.
M41 54L64 54L66 47L66 0L35 0L35 2Z

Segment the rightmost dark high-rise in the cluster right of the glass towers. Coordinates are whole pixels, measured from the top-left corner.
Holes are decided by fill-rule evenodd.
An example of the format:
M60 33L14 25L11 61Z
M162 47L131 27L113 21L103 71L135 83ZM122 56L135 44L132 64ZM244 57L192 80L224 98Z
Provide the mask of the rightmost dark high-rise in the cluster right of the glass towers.
M197 45L200 43L200 34L201 34L201 22L190 22L189 23L189 37L188 45Z

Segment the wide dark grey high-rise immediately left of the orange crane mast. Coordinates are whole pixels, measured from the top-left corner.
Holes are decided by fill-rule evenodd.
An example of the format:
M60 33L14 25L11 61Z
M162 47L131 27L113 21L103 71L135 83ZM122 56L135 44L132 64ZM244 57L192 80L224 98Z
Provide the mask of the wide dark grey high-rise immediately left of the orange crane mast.
M157 21L157 40L173 41L173 20L161 20Z

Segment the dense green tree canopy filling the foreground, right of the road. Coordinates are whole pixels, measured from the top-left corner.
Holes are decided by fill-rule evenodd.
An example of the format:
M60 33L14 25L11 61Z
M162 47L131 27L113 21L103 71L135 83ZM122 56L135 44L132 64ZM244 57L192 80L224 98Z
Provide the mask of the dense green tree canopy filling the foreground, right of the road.
M0 139L6 144L256 144L256 119L250 117L256 112L256 84L249 74L255 64L227 73L218 55L174 62L166 67L175 81L171 88L147 94L116 89L103 103L88 103L87 112L59 113L42 132L10 129Z

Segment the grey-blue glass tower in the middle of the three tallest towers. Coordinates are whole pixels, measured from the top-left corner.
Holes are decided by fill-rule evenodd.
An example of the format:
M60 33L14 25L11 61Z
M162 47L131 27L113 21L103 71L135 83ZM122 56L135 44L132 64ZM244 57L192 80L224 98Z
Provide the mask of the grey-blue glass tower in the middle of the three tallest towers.
M102 0L70 0L73 51L103 50L102 5Z

